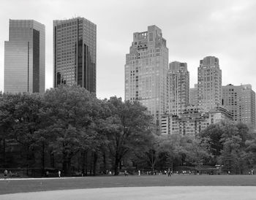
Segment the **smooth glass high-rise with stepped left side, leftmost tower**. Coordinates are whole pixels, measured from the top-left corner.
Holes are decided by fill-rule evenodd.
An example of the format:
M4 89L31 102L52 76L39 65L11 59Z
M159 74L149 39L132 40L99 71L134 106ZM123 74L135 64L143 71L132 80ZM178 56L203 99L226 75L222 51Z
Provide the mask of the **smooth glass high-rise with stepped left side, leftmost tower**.
M45 26L35 20L10 20L4 42L4 92L45 92Z

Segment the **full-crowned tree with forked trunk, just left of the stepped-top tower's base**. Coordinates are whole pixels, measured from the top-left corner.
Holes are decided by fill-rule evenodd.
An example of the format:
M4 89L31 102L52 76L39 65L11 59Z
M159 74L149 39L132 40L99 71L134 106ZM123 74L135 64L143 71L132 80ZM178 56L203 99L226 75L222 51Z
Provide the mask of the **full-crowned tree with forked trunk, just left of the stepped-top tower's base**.
M108 101L111 115L106 127L110 155L114 158L115 175L121 159L134 150L143 150L151 141L151 115L139 102L122 102L116 97Z

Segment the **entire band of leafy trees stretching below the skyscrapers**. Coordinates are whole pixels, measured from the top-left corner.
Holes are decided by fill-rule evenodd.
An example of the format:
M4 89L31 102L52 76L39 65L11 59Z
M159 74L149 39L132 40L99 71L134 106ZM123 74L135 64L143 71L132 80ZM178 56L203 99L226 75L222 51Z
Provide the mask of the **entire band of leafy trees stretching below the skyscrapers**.
M76 85L0 93L0 169L118 175L220 164L243 173L255 164L255 153L255 134L241 123L214 124L195 137L158 136L138 101L97 99Z

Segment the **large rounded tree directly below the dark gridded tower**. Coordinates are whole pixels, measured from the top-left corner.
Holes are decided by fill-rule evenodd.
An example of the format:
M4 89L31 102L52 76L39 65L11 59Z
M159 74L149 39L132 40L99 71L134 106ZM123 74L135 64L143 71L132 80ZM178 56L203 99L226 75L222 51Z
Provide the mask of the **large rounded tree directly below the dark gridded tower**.
M53 153L62 155L64 174L71 174L72 158L89 146L94 115L97 115L97 99L85 88L60 85L45 93L42 115L52 122L47 130L56 135L51 143Z

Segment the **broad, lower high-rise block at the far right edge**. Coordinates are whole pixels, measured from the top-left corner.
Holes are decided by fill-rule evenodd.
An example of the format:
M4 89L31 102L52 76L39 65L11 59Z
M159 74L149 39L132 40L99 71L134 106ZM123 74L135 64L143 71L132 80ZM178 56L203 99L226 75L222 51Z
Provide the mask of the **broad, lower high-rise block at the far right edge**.
M252 85L222 86L222 105L228 109L234 122L255 127L255 92Z

